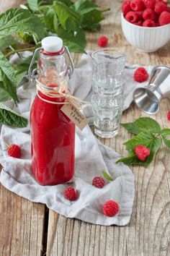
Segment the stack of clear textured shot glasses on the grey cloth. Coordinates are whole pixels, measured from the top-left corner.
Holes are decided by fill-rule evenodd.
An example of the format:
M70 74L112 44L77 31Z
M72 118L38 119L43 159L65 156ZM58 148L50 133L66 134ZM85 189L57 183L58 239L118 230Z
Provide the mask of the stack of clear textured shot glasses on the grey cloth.
M105 49L95 51L92 59L94 133L99 137L114 137L122 116L125 54Z

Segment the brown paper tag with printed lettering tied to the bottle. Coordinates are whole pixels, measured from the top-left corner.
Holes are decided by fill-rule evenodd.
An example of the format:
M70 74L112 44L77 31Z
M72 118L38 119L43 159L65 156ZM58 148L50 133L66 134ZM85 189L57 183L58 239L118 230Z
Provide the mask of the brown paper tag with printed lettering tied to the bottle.
M66 116L68 116L71 121L73 121L74 124L76 124L79 129L84 129L86 127L86 124L89 123L89 120L86 119L86 116L79 111L76 105L73 103L64 104L61 108L61 111L63 111Z

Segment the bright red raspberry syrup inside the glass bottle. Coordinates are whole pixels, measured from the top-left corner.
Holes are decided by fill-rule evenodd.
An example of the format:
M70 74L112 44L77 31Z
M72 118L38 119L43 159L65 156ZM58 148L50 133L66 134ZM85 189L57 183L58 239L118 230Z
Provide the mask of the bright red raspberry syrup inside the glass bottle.
M53 87L53 85L48 85ZM70 181L74 174L75 125L63 114L66 98L50 98L38 91L30 113L32 174L41 185Z

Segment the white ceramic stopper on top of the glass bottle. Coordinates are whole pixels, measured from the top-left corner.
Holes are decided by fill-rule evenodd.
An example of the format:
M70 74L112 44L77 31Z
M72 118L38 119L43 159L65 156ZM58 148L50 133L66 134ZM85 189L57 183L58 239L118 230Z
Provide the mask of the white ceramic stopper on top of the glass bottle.
M50 53L61 51L63 48L63 40L57 36L48 36L47 38L43 38L41 44L44 51L48 51Z

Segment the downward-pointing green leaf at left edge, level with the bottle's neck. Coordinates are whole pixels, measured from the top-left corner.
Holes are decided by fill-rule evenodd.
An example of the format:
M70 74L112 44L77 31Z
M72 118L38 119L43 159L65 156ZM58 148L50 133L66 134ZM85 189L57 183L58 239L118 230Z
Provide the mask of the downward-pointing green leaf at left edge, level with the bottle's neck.
M15 103L18 102L16 87L17 79L14 68L0 51L0 88L5 90Z

